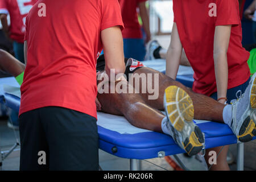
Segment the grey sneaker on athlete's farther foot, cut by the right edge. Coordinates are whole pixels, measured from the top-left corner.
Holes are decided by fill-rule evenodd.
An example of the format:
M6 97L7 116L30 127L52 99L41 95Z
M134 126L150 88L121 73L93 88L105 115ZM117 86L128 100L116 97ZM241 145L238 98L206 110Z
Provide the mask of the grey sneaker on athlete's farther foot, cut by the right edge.
M256 135L256 73L251 77L245 93L232 101L232 122L230 127L238 140L249 142Z

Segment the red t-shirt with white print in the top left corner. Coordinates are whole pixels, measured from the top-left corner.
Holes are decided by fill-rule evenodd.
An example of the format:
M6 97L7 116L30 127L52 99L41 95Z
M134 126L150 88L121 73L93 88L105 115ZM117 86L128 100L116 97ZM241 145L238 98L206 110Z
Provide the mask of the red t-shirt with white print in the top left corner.
M0 14L10 14L10 38L24 42L26 16L38 0L1 0Z

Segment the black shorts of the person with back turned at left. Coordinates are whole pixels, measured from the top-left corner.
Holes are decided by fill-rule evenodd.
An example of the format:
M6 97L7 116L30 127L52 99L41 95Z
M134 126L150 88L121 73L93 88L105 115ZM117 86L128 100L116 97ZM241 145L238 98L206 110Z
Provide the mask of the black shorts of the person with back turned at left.
M88 114L63 107L31 110L20 115L19 133L20 170L98 170L98 129Z

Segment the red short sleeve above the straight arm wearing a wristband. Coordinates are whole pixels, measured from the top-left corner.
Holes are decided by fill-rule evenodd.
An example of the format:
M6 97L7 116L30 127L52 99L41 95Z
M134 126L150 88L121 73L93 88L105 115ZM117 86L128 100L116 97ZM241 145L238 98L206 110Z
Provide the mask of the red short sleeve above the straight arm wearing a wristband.
M217 0L217 17L215 26L240 24L240 10L237 0Z

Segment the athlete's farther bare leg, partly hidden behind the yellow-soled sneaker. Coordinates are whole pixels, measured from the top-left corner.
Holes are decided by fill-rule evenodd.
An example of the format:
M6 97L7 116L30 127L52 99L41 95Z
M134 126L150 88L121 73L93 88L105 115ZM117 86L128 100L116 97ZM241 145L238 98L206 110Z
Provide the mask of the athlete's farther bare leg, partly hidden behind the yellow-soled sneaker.
M138 75L141 74L151 74L152 75L152 87L154 88L154 76L155 74L159 75L159 97L156 100L148 100L148 96L153 95L149 93L142 93L142 85L144 84L144 80L142 82L142 79L140 79L140 93L141 96L146 102L146 104L150 105L151 107L154 107L155 109L164 110L163 107L163 96L164 96L164 90L171 85L178 86L179 88L185 90L189 94L189 96L192 98L194 109L195 109L195 119L202 119L202 120L209 120L209 121L216 121L224 123L222 113L225 105L220 104L220 102L217 102L213 100L210 97L204 96L203 94L197 94L193 92L190 88L187 88L180 82L177 82L175 80L172 80L172 78L167 77L163 73L160 73L154 69L142 67L137 69L134 74L137 73ZM129 80L131 81L131 80ZM147 81L146 81L147 82ZM135 81L134 81L135 86ZM147 85L148 86L148 85ZM147 88L147 87L146 87Z

